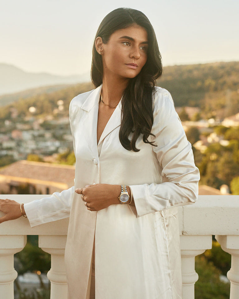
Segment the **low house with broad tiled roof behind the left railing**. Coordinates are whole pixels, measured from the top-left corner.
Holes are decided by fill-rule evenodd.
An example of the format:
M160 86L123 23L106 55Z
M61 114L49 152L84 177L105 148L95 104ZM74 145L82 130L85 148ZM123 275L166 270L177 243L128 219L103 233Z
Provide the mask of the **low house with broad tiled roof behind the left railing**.
M74 186L75 166L17 161L0 169L5 194L52 194Z

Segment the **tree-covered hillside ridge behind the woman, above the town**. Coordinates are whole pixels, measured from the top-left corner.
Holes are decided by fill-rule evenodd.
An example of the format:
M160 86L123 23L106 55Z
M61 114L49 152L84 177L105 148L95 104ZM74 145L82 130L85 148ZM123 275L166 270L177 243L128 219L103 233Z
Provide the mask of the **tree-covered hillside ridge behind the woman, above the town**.
M199 107L204 118L216 115L222 119L239 112L239 62L167 66L157 85L170 91L175 106ZM91 83L48 86L13 94L8 100L19 99L10 106L17 108L22 116L29 114L31 106L37 108L37 114L42 114L53 111L59 99L69 105L75 95L90 89L93 89ZM1 118L9 117L10 106L2 107Z

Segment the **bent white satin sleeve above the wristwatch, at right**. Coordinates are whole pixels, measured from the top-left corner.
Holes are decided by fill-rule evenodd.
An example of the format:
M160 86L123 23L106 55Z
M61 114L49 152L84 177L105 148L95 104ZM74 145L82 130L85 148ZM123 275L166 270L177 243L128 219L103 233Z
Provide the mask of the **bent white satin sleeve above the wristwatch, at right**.
M136 217L173 206L193 204L198 198L199 170L195 166L192 146L187 140L171 94L157 89L154 122L151 132L157 147L152 147L162 167L162 183L132 185Z

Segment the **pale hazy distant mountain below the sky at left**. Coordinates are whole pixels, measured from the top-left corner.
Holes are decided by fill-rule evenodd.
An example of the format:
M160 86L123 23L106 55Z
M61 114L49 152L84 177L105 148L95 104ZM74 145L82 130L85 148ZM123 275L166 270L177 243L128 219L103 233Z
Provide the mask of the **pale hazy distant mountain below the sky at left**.
M0 63L0 94L9 94L45 85L86 82L89 74L58 76L48 73L30 73L14 65Z

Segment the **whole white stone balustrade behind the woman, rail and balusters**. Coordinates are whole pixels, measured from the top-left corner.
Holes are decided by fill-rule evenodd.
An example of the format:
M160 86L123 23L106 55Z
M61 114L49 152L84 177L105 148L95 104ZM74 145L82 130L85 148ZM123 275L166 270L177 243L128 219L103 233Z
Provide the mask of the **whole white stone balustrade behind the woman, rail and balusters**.
M45 195L4 195L17 202L30 202ZM1 198L4 198L3 195ZM194 205L178 207L182 262L183 299L194 299L195 256L212 248L212 235L224 251L232 255L227 277L231 282L230 299L239 294L239 196L203 195ZM0 216L3 215L0 212ZM13 299L13 282L17 272L13 255L26 244L27 235L39 235L39 247L51 254L51 299L67 299L65 243L69 219L31 228L27 219L0 224L0 299Z

